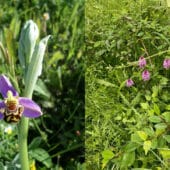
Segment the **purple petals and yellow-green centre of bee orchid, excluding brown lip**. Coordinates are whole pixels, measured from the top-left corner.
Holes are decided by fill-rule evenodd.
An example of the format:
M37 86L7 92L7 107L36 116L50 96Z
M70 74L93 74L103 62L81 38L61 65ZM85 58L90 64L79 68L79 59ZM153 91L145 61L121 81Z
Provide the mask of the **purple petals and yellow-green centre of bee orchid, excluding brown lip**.
M33 100L26 97L19 97L18 92L12 86L11 82L5 75L0 75L0 93L4 97L3 101L0 101L0 119L4 118L4 110L7 109L7 103L17 105L16 107L24 107L23 116L29 118L35 118L42 115L41 108Z

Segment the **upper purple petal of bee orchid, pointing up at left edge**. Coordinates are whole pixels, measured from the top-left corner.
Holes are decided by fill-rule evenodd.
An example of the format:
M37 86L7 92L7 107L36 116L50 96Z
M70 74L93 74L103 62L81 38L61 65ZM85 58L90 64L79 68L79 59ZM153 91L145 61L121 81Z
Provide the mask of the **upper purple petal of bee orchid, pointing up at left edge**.
M12 86L11 82L5 75L0 75L0 93L4 98L7 97L7 92L11 91L13 96L18 96L17 91Z

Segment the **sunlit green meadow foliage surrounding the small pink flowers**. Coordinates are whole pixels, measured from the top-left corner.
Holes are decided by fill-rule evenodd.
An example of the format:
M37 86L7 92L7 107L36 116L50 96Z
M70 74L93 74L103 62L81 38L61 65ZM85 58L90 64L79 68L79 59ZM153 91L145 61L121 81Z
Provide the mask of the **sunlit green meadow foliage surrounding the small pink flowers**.
M168 169L170 20L166 1L86 2L86 166ZM144 82L138 59L147 59ZM126 87L126 80L135 82Z

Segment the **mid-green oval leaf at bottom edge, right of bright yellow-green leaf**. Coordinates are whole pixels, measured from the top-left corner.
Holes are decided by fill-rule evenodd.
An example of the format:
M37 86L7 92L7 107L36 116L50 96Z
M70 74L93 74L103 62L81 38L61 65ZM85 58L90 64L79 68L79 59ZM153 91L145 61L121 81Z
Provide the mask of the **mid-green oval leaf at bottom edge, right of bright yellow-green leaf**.
M127 152L123 155L121 161L121 168L127 168L131 166L135 161L135 152Z

